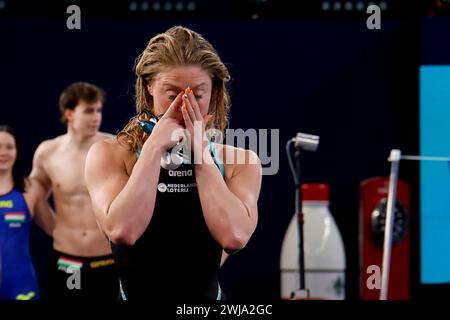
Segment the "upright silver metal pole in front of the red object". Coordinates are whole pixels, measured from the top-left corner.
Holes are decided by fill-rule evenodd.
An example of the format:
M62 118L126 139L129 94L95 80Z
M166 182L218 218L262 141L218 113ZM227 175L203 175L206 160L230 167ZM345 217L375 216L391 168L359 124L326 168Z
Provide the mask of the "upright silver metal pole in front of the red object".
M381 274L380 300L387 300L389 285L389 268L391 264L392 228L394 225L394 204L397 194L397 181L401 151L392 149L388 161L391 162L391 174L389 177L389 193L386 208L386 222L384 227L383 266Z

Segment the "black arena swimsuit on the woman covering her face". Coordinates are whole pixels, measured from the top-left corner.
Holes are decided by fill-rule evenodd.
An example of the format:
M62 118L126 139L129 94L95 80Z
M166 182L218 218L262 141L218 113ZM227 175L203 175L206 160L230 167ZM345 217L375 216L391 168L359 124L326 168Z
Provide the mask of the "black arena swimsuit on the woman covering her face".
M223 174L223 165L215 160ZM194 170L190 163L176 170L161 167L155 208L145 232L134 246L111 243L124 299L220 298L222 248L203 217Z

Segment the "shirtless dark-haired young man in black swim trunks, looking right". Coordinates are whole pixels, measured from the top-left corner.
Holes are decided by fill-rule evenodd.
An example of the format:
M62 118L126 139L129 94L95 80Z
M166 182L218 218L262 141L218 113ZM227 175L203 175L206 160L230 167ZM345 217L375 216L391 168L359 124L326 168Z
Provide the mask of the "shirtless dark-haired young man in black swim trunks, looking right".
M98 131L103 102L104 92L95 85L77 82L68 86L59 100L67 133L42 142L34 154L30 178L47 194L52 193L56 211L51 300L117 300L119 295L111 247L97 225L84 181L89 148L112 137ZM46 205L48 199L42 199L37 209Z

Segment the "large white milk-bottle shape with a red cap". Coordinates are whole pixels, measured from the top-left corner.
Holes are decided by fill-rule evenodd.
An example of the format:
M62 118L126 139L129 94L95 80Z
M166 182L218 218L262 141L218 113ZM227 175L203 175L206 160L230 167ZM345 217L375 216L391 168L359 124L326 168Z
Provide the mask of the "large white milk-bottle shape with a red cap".
M345 248L329 210L327 184L302 185L305 289L310 299L345 299ZM299 292L298 217L293 216L281 249L281 298L304 299ZM300 294L301 293L301 294Z

